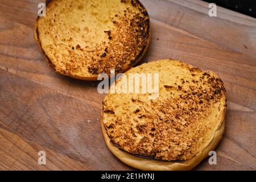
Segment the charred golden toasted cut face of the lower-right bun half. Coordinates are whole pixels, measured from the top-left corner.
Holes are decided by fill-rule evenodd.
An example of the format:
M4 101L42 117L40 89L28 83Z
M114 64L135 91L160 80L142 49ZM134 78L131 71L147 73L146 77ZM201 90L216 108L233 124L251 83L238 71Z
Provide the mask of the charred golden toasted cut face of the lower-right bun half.
M129 73L159 73L159 97L108 94L102 123L112 143L129 154L166 161L191 159L208 146L226 109L216 74L175 60L142 64Z

